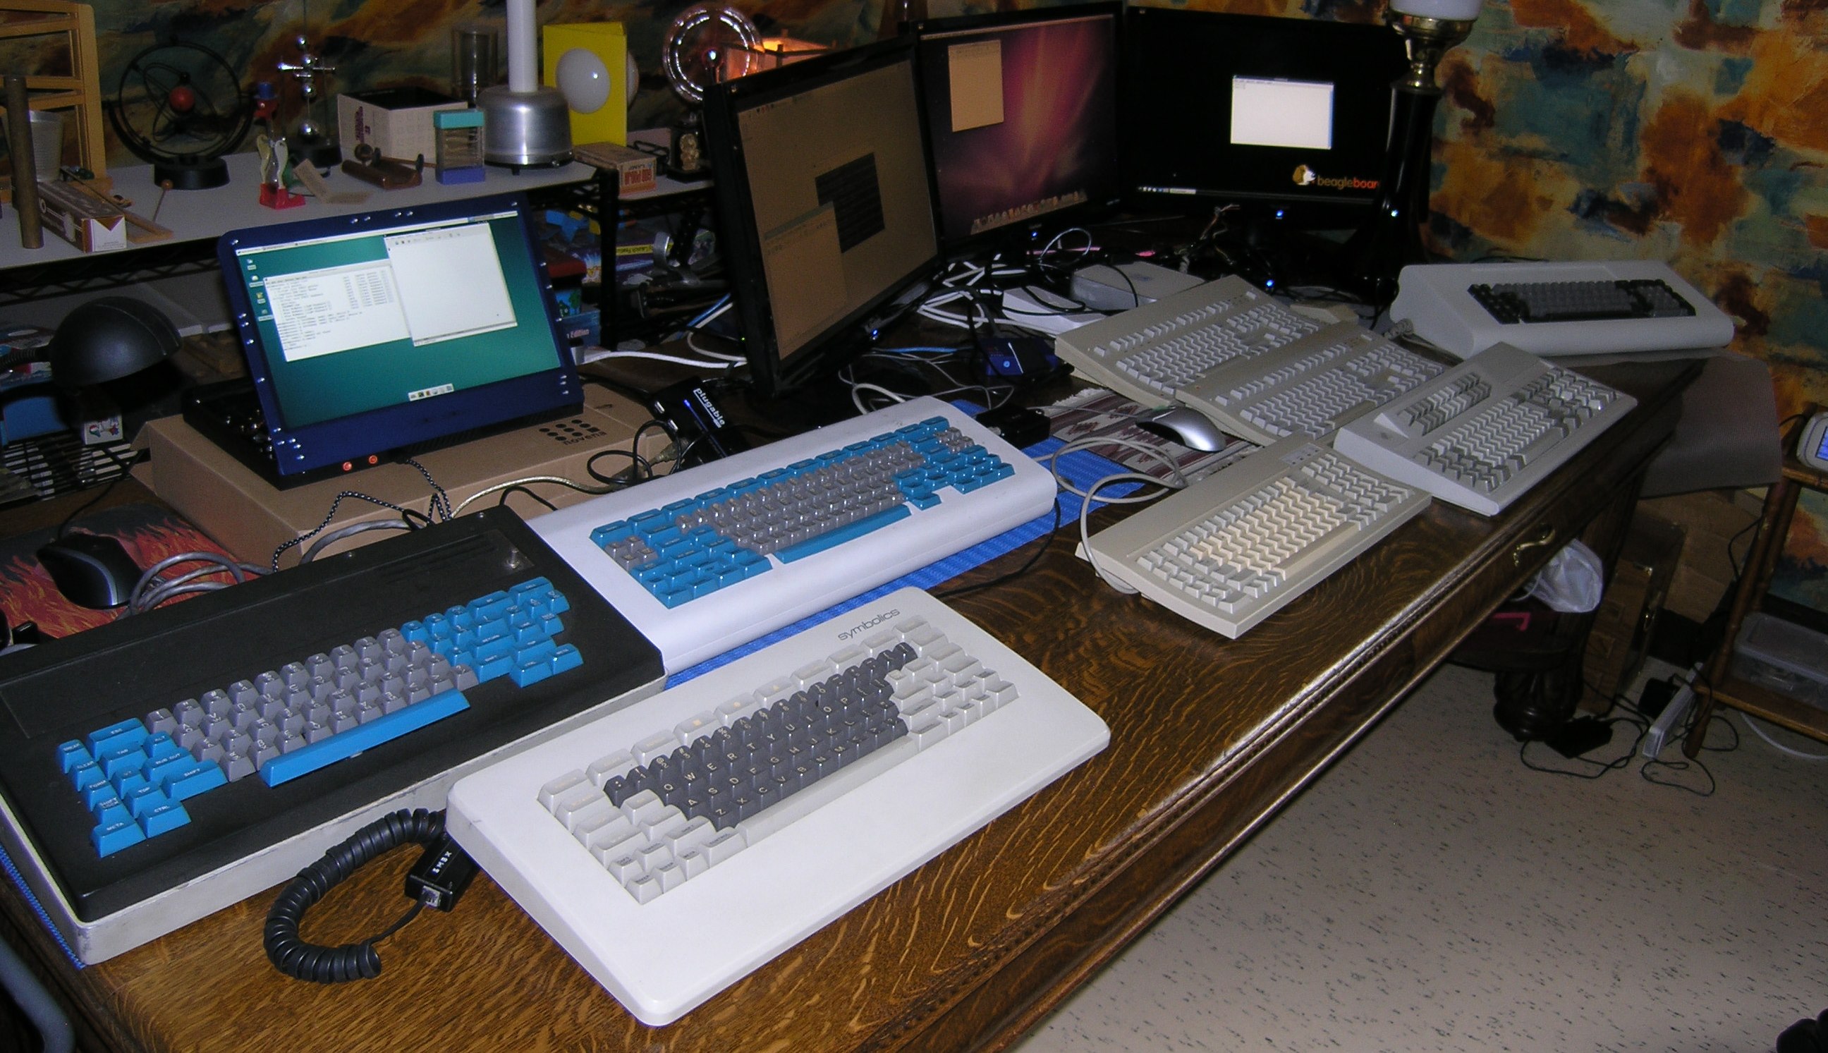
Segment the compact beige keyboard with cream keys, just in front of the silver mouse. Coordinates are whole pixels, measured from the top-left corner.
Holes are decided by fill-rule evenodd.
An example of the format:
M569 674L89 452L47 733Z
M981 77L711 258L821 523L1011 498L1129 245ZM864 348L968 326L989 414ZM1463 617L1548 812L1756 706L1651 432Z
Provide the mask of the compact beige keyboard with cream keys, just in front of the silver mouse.
M1080 556L1236 638L1422 508L1428 494L1283 439L1093 534Z

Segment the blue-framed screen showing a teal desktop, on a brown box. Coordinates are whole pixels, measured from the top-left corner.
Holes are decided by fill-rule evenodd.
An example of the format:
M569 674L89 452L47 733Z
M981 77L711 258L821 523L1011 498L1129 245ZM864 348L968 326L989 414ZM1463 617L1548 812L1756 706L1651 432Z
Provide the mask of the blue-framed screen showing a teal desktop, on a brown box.
M230 230L216 252L280 483L583 406L515 197Z

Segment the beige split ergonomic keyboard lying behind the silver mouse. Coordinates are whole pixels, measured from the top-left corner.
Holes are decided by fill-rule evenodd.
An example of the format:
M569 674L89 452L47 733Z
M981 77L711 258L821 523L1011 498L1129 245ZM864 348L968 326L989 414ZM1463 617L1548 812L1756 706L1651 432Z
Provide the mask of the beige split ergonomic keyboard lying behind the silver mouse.
M1440 373L1351 322L1322 325L1219 278L1055 336L1088 380L1144 406L1181 402L1252 442L1322 439Z

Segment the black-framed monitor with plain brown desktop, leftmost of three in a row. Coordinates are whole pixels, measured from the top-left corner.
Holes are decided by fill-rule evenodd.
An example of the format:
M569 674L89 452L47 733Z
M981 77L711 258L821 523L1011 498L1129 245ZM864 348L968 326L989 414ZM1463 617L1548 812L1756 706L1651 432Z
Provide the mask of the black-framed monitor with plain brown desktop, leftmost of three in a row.
M801 388L938 265L912 40L720 84L704 124L749 377Z

